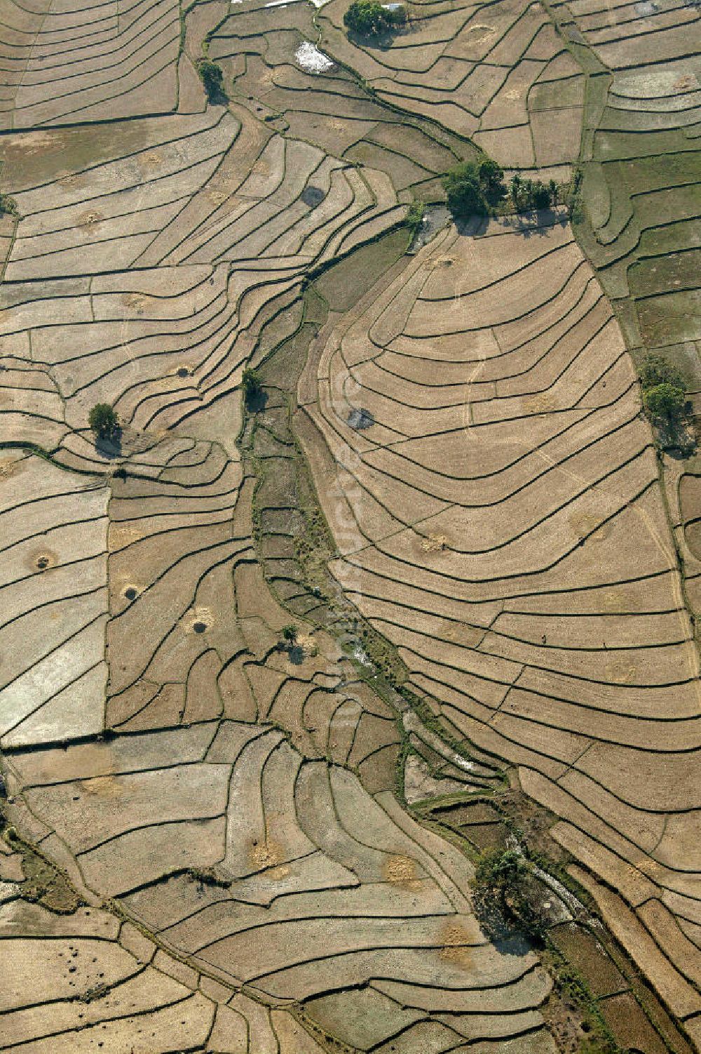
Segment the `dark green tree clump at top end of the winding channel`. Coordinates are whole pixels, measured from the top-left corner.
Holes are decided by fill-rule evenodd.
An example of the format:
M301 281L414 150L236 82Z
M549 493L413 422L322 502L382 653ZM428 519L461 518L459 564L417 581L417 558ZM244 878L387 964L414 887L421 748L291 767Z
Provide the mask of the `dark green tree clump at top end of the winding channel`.
M504 172L493 158L463 161L443 176L443 187L454 216L488 216L507 198L515 212L548 209L557 204L559 188L540 179L522 179L518 173L506 187Z

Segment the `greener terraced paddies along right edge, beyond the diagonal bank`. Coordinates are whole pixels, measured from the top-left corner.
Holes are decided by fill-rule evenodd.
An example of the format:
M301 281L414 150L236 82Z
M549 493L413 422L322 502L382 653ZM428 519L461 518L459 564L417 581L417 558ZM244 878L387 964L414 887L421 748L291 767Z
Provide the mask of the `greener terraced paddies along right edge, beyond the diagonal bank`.
M697 3L548 4L587 72L582 222L598 270L640 363L681 371L700 432L701 22ZM690 610L701 613L696 458L664 460Z

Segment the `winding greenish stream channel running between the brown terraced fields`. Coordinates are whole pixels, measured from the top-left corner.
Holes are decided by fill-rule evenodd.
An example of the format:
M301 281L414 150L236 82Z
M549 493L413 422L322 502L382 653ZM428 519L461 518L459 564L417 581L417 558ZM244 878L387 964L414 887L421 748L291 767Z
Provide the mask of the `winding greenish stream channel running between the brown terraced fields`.
M420 243L436 233L435 226ZM409 229L393 230L269 306L252 358L263 392L248 406L239 436L246 473L256 480L254 531L261 566L280 602L294 617L332 632L358 675L397 714L395 793L410 815L474 861L508 847L528 858L527 900L538 934L514 928L505 940L512 953L535 943L554 977L542 1011L559 1049L690 1054L657 995L568 874L570 858L549 834L557 818L523 794L516 767L452 740L426 704L403 686L406 671L394 646L359 614L328 570L336 547L296 434L298 380L309 356L323 347L324 327L401 272L413 241ZM362 409L353 412L358 419L348 422L352 427L372 424Z

